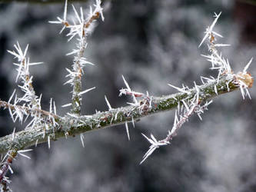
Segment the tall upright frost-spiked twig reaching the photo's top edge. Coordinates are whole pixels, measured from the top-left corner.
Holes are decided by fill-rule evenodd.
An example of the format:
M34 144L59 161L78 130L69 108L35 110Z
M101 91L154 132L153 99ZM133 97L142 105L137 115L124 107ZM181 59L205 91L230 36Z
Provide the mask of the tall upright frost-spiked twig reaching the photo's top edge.
M56 21L49 21L49 23L52 24L61 24L62 30L65 28L69 29L69 32L66 36L68 36L68 41L70 41L72 38L76 37L76 40L78 41L76 43L75 49L73 49L71 52L69 52L67 55L75 55L74 61L72 65L72 69L66 68L68 71L68 74L66 75L68 81L65 82L65 84L71 84L72 90L72 98L71 98L71 104L65 104L65 107L72 106L71 108L71 114L80 115L81 114L81 95L85 94L91 89L81 91L81 76L84 74L83 68L85 65L93 65L91 62L87 61L86 58L84 58L85 48L87 46L87 36L91 32L91 24L101 16L102 21L104 21L104 16L102 13L101 8L101 0L95 0L95 9L92 11L92 8L90 7L90 12L88 14L88 17L85 18L83 9L80 8L80 13L77 12L75 9L75 6L72 5L73 11L75 13L75 20L73 20L73 24L71 22L68 22L67 20L67 12L68 12L68 0L65 1L65 7L64 7L64 13L63 18L57 17Z

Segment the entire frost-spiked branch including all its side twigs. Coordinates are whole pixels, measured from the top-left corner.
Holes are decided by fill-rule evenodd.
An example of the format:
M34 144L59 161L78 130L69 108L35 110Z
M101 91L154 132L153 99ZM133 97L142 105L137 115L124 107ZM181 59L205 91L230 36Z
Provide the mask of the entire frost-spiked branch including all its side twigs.
M155 97L148 94L132 91L128 82L125 81L126 88L121 88L119 96L122 94L131 96L133 102L129 105L121 108L112 108L107 97L105 101L108 105L108 111L96 112L91 115L81 115L81 98L82 95L95 88L88 88L85 91L81 90L82 74L84 74L84 68L86 65L93 65L90 61L84 58L85 48L87 46L88 34L91 32L91 25L96 19L101 17L102 21L104 16L102 14L101 1L96 0L94 8L90 9L88 16L85 17L83 9L80 8L80 12L77 12L73 6L75 19L71 23L67 19L67 7L68 2L65 2L63 18L57 17L57 21L50 23L62 25L62 30L68 29L68 41L72 38L76 38L76 47L67 55L75 55L71 69L67 68L68 81L65 84L70 84L72 87L71 103L65 104L62 107L71 107L71 111L65 116L60 117L57 114L55 108L55 102L50 100L50 107L48 111L42 110L41 98L42 94L38 97L35 94L32 85L32 75L29 74L29 67L32 65L39 65L40 63L32 63L26 56L28 51L28 45L25 47L25 51L22 51L21 46L15 44L15 51L8 51L15 58L18 63L16 65L18 75L16 82L20 82L18 87L24 93L22 97L18 97L18 94L13 92L9 101L0 100L0 108L8 109L12 120L20 121L21 123L30 119L26 125L24 131L15 133L0 138L0 153L6 153L2 159L0 168L0 182L4 186L8 183L8 179L5 174L8 170L12 171L10 165L12 160L17 154L24 157L28 157L23 154L30 150L25 150L26 147L37 145L40 143L48 143L48 147L51 147L51 141L56 141L61 137L74 137L76 134L80 134L81 143L83 143L83 133L88 131L99 130L106 127L114 127L118 124L125 124L125 128L130 140L128 123L132 123L135 126L135 121L146 117L151 114L156 114L161 111L169 111L177 108L175 112L175 121L171 130L165 138L157 140L155 136L151 134L151 138L145 134L143 136L150 142L151 146L143 157L144 162L158 147L171 144L171 140L178 134L178 130L193 114L198 114L201 119L201 114L208 109L208 104L211 98L214 98L220 94L228 93L236 89L241 90L242 97L250 94L248 88L251 88L253 84L253 78L248 73L249 65L251 65L252 58L245 65L243 71L234 73L231 70L231 66L228 59L225 59L218 50L218 47L229 46L226 44L217 43L216 37L222 37L216 31L213 30L216 25L220 14L215 14L214 22L209 26L206 31L203 40L199 47L207 41L209 55L202 55L211 62L211 69L218 70L217 78L204 78L201 77L201 85L194 82L193 88L183 86L182 88L175 87L168 84L172 88L178 90L176 94L169 94L162 97ZM3 183L4 182L4 183Z

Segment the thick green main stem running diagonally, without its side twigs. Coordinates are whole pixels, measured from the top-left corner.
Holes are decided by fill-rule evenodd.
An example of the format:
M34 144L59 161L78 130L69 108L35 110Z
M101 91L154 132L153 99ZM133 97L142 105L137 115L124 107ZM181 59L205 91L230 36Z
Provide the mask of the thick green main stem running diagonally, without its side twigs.
M198 86L199 100L204 102L209 98L213 98L220 94L238 89L239 86L234 78L230 75L223 75L219 81L209 81L208 83ZM194 98L197 94L195 88L188 89L190 94L178 92L163 97L152 98L152 108L146 108L141 112L141 106L127 106L123 108L112 108L109 111L98 112L92 115L76 117L68 114L63 118L59 118L58 124L49 125L46 129L45 124L38 126L35 130L19 131L15 134L15 141L12 141L12 134L0 138L0 153L6 153L10 147L18 150L40 144L48 141L48 137L52 141L61 137L75 136L75 134L85 133L102 129L105 127L113 127L117 124L125 124L126 121L138 120L139 118L156 114L161 111L169 111L182 104L185 98ZM218 91L218 94L216 94Z

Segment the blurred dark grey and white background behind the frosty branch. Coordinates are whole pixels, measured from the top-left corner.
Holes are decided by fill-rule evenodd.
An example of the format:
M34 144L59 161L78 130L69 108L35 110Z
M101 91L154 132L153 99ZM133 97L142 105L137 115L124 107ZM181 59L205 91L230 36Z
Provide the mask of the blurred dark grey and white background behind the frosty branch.
M75 7L94 3L74 2ZM36 93L42 93L42 108L48 110L50 98L64 115L70 102L71 88L65 68L75 46L67 42L66 31L58 35L60 25L51 25L63 15L64 1L28 3L0 1L0 98L8 101L15 84L12 56L15 41L22 48L29 44L28 55ZM85 68L84 89L96 86L83 98L83 114L108 110L104 96L113 108L127 105L128 97L118 98L125 84L124 74L135 91L151 95L175 93L175 86L200 76L216 76L210 63L201 57L208 54L204 45L198 49L204 30L213 21L214 12L222 12L215 30L231 44L221 49L235 72L241 71L251 57L256 58L256 3L231 0L112 0L105 1L105 22L98 21L88 38L85 56L95 66ZM68 6L69 15L73 15ZM255 60L249 70L256 74ZM18 157L12 168L13 191L255 191L256 189L256 90L251 100L242 99L240 91L214 98L200 121L192 117L172 141L139 165L148 151L148 141L141 136L166 136L174 121L174 111L143 118L132 128L128 141L125 125L85 134L85 148L80 137L40 144L28 160ZM11 134L13 124L8 111L0 111L0 134ZM34 147L32 147L34 148Z

